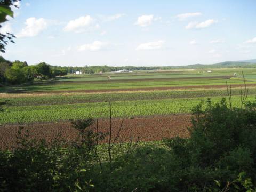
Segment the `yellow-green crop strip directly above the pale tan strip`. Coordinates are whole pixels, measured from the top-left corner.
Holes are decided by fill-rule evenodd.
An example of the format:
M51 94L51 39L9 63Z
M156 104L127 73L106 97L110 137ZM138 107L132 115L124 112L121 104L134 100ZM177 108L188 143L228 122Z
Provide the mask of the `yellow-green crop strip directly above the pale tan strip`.
M243 84L242 79L229 79L229 84ZM254 84L255 81L247 82ZM77 91L77 90L111 90L111 89L143 89L153 87L182 87L182 86L197 86L197 85L226 85L225 79L189 79L189 80L172 80L169 81L133 81L133 82L107 82L107 83L64 83L57 84L42 84L29 85L22 87L13 87L17 92L51 92L51 91ZM10 88L9 88L10 89ZM6 91L6 90L2 90Z

